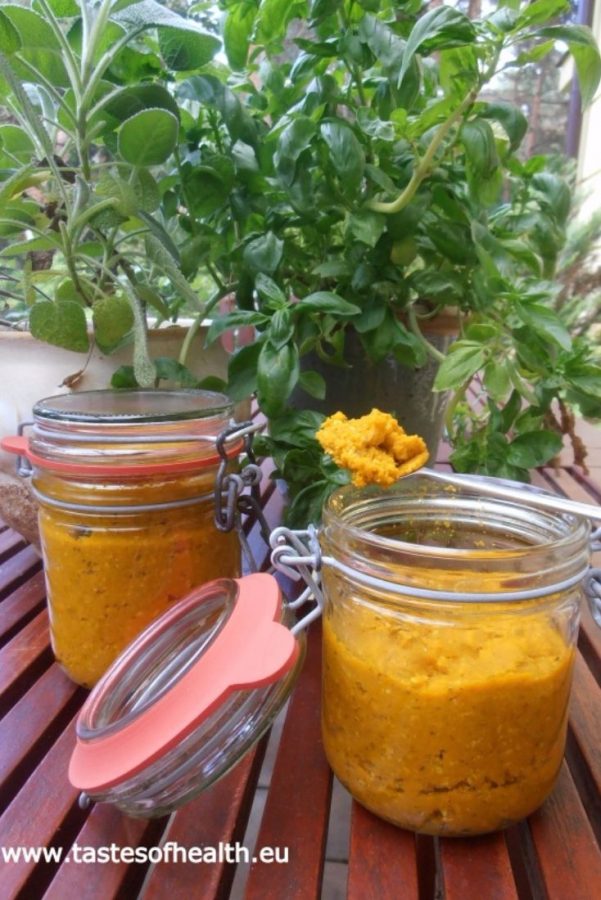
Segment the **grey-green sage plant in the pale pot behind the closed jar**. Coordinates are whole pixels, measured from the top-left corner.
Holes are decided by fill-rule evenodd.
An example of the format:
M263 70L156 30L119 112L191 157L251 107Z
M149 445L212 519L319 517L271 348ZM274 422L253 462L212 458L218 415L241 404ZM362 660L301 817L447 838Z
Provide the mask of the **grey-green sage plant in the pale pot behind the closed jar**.
M133 366L117 373L116 386L197 383L177 360L180 348L175 359L164 350L153 358L147 318L204 314L190 283L190 236L174 224L183 129L169 86L219 46L154 0L2 4L2 318L10 326L21 313L46 342L10 327L0 334L8 345L0 349L3 434L61 381L63 389L106 387L118 363L105 358L132 341ZM104 384L88 377L92 354ZM36 507L11 477L14 461L1 456L2 514L35 539Z

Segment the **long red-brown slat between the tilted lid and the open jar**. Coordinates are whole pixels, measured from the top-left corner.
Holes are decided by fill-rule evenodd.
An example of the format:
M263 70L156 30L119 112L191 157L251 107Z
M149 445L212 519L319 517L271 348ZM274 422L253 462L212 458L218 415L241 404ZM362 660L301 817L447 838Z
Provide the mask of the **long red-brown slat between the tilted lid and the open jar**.
M245 900L319 897L332 791L321 743L321 629L312 627L304 671L290 701L255 855L288 848L284 865L253 862Z

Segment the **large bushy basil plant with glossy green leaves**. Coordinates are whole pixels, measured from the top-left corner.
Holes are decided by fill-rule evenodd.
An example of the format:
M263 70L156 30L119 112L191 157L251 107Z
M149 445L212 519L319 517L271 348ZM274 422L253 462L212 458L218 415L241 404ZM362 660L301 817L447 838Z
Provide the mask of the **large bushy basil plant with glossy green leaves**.
M551 308L570 187L552 160L520 158L522 111L483 96L500 71L559 43L590 101L598 50L588 29L558 23L567 11L507 3L472 21L417 3L227 4L229 84L252 127L235 141L222 132L218 152L244 158L244 177L202 219L231 234L213 265L238 298L212 336L257 330L231 361L230 390L256 391L269 447L302 488L299 520L339 478L309 436L331 380L349 403L374 366L403 366L402 385L433 360L421 403L452 392L455 465L516 478L557 453L571 405L601 412L601 369ZM199 148L216 152L208 132ZM428 328L449 310L457 340L437 348ZM370 390L366 404L378 403ZM382 405L412 427L400 390Z

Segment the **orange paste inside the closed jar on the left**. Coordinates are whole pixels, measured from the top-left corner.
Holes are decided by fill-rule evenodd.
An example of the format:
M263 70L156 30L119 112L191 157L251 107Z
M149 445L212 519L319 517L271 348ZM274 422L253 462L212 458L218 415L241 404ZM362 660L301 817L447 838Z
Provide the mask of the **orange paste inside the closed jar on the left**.
M102 505L154 504L208 493L213 474L81 485L49 475L36 486L96 509L40 509L52 647L77 683L91 687L128 643L194 587L240 574L235 531L217 531L212 496L190 506L127 513Z

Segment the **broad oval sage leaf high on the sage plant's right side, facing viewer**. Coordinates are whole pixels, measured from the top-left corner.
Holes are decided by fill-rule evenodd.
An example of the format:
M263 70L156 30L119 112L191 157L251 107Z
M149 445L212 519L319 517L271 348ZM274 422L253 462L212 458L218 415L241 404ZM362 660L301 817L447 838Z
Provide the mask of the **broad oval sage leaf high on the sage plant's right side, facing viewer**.
M135 166L164 163L177 144L179 123L165 109L145 109L126 119L119 129L119 153Z

